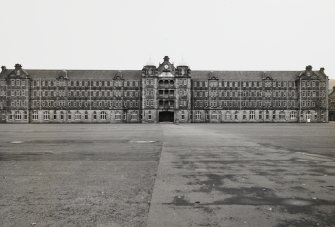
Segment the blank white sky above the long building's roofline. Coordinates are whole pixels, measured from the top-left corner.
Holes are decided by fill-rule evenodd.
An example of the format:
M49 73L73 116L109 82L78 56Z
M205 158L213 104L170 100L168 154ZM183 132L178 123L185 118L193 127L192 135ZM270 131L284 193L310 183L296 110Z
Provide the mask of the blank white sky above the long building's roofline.
M0 64L141 69L165 55L207 70L335 78L334 0L0 0ZM182 60L184 59L184 60Z

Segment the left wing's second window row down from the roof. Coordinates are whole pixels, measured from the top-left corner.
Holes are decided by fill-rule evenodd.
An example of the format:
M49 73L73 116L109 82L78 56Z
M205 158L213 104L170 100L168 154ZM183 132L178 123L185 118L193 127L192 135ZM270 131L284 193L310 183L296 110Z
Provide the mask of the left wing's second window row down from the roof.
M40 95L41 94L41 95ZM139 97L138 91L33 91L32 97Z

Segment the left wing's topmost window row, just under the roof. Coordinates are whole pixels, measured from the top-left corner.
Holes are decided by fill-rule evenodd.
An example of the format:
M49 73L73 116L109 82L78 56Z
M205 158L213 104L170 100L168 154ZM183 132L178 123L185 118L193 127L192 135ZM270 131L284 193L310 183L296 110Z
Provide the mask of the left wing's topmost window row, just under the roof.
M35 87L138 87L141 83L139 80L34 80L32 84Z

